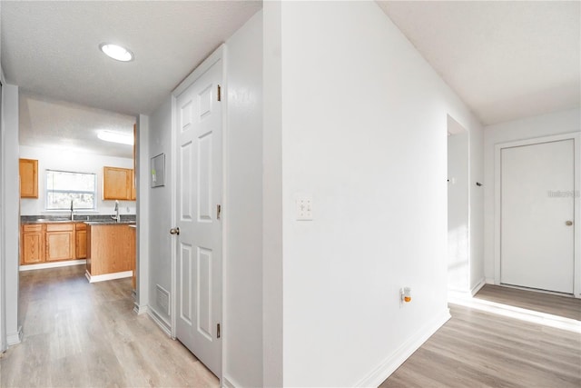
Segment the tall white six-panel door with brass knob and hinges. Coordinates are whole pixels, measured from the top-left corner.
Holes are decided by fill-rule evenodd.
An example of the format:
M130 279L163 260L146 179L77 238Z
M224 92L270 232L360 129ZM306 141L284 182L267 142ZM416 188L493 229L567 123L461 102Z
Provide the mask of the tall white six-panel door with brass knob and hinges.
M222 341L222 60L176 100L176 337L220 376Z

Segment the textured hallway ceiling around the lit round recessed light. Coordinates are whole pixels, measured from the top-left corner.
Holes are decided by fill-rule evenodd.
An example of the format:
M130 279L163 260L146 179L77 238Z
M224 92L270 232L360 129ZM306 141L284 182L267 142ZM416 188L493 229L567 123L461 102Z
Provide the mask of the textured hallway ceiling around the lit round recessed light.
M122 114L149 114L261 8L251 1L5 1L6 82L35 95ZM114 61L103 42L130 48Z

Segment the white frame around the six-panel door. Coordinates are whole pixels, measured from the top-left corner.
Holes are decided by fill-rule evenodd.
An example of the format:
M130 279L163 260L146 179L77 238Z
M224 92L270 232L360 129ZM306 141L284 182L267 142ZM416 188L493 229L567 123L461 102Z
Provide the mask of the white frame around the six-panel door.
M208 55L206 59L202 61L202 64L198 65L190 75L185 77L180 85L177 85L175 89L172 91L172 135L171 135L171 168L170 168L170 176L172 177L172 185L171 185L171 208L172 208L172 225L177 224L177 171L175 166L177 165L177 154L174 152L176 145L177 145L177 133L178 133L178 126L179 122L177 120L177 99L182 93L190 87L194 82L196 82L208 69L212 67L212 65L216 64L219 61L222 61L222 209L227 206L225 203L225 198L227 197L226 193L226 159L227 159L227 128L228 128L228 98L227 98L227 90L228 90L228 78L227 78L227 49L226 45L220 45L216 50L212 52L211 55ZM167 171L167 170L166 170ZM222 341L221 341L221 375L217 376L220 381L222 382L222 374L224 371L224 341L225 338L225 330L223 328L223 323L225 321L225 308L224 308L224 295L226 294L225 288L225 279L226 279L226 233L227 230L227 223L228 223L228 215L227 213L223 212L222 210L222 217L221 217L221 233L222 233L222 311L220 312L220 316L222 317ZM172 339L176 339L176 326L177 326L177 317L175 312L177 311L177 244L176 240L173 239L172 241L172 268L171 268L171 298L170 298L170 323L171 323L171 336Z

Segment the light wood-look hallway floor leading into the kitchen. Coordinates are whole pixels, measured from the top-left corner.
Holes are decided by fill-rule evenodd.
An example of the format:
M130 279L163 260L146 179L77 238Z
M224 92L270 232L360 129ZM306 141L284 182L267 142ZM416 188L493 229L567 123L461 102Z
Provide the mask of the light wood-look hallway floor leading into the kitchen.
M88 284L84 266L20 275L23 343L0 356L4 387L218 387L182 343L132 312L131 278Z

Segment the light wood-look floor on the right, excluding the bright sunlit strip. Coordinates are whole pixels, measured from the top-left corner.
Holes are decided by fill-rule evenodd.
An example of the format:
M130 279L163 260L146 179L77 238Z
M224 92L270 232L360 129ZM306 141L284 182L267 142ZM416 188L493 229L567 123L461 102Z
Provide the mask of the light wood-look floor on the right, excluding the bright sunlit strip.
M573 319L581 312L581 300L506 287L486 286L477 298ZM380 387L581 387L581 334L456 304L450 313Z

